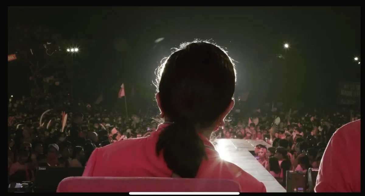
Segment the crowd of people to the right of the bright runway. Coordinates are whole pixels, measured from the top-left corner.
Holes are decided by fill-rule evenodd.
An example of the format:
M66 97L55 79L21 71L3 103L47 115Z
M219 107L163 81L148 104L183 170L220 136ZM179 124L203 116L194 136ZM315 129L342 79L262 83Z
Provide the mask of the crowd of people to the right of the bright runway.
M327 142L334 132L361 117L360 113L355 114L351 110L289 110L287 113L277 113L276 110L273 108L269 115L257 112L253 120L233 120L218 132L217 138L260 139L270 144L270 147L258 144L255 155L284 188L286 171L307 174L309 168L318 169ZM280 122L280 117L284 121Z

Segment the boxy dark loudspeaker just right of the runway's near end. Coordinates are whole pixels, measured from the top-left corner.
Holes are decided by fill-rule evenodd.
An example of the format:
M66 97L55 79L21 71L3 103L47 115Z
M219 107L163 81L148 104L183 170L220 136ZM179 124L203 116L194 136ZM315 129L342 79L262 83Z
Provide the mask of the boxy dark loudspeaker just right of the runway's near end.
M307 178L302 171L287 171L287 193L306 192Z

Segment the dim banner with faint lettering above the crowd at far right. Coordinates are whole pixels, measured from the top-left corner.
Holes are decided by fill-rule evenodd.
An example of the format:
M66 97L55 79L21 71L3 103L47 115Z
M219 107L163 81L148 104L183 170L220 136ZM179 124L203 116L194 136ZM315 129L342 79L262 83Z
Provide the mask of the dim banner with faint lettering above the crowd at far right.
M339 83L339 104L356 105L360 104L361 86L360 82Z

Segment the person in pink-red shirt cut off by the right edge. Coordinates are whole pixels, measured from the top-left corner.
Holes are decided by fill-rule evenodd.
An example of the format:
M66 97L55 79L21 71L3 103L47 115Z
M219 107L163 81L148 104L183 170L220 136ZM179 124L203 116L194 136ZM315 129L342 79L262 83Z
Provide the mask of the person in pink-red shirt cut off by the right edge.
M339 128L319 166L315 192L361 192L360 120Z

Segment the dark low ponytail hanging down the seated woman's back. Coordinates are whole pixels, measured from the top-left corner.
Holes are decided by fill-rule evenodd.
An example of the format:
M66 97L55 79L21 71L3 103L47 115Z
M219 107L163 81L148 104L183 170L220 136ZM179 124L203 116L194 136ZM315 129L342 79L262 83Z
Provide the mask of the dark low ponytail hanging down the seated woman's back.
M188 122L174 122L161 131L157 156L161 151L169 169L181 178L195 178L203 158L207 158L203 141Z

